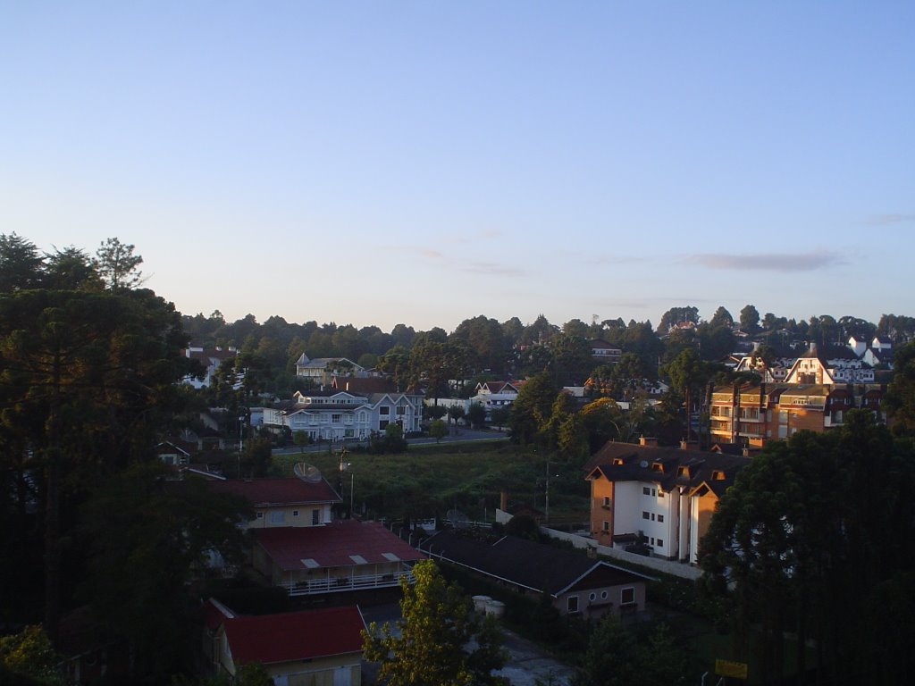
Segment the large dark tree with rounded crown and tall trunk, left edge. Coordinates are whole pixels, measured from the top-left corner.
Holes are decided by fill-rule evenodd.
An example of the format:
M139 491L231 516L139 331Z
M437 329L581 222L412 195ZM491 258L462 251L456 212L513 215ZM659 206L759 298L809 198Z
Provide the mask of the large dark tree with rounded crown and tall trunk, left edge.
M12 520L41 508L52 639L73 510L96 477L152 455L180 403L184 344L178 313L151 291L0 295L0 478L26 498L5 504Z

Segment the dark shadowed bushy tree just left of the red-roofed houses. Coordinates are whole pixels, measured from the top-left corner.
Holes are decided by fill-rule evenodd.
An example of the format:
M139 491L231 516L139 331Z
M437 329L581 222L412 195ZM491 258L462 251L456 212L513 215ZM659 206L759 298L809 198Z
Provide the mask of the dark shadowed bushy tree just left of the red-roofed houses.
M168 481L160 462L107 479L82 510L89 555L81 591L112 636L128 640L135 679L156 681L189 664L197 606L183 591L211 558L242 561L241 498L202 480Z

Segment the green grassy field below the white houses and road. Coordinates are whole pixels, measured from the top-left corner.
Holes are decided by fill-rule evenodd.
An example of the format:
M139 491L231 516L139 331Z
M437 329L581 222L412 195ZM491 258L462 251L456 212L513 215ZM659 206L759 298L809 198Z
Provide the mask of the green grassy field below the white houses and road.
M372 518L442 517L460 509L471 520L492 520L502 491L509 506L528 504L544 509L544 456L508 443L411 445L401 455L369 455L351 451L343 475L344 502ZM274 456L274 473L291 475L296 462L317 466L339 488L339 453ZM588 485L574 466L550 464L550 520L584 521L588 516Z

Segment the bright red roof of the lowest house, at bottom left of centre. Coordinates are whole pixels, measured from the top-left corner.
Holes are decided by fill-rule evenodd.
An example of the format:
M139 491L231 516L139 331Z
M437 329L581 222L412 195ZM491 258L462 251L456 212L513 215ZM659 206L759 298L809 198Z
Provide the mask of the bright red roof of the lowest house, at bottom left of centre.
M343 606L240 616L224 626L235 664L270 664L361 652L365 622L359 607Z

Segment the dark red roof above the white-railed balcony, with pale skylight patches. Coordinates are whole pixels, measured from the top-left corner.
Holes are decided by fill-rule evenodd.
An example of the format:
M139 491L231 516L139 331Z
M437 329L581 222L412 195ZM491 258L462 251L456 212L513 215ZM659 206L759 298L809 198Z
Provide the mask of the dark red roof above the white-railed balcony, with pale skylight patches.
M323 527L276 527L256 529L255 540L284 571L307 569L302 560L314 560L318 567L351 567L350 555L366 563L413 562L425 555L377 521L335 521ZM385 556L389 553L389 556ZM390 555L395 560L390 559Z

